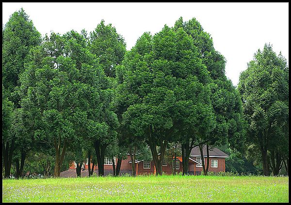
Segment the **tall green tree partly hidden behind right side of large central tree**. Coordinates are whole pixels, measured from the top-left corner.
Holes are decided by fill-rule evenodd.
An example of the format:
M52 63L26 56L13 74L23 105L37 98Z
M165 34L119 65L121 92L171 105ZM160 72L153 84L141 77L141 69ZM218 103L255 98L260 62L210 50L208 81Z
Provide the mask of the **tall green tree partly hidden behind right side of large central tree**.
M203 144L206 144L207 150L209 150L211 146L218 146L223 143L228 143L231 147L242 151L245 140L242 103L238 91L231 81L226 78L226 60L224 56L214 49L210 34L204 31L195 18L183 22L182 17L180 17L175 23L174 30L178 31L179 28L182 28L192 37L194 46L197 48L195 55L197 58L201 58L202 65L206 67L210 74L210 80L208 81L209 98L212 107L210 110L214 114L212 129L209 132L203 131L203 135L193 135L190 137L190 141L186 140L189 141L188 144L190 146L185 144L189 149L184 148L184 152L190 152L194 146L199 146L202 151ZM209 160L209 157L207 158ZM186 161L188 161L187 159L185 158ZM202 161L204 162L204 159ZM186 164L185 166L185 169L187 169ZM207 174L208 167L205 168L204 163L203 170L204 174Z

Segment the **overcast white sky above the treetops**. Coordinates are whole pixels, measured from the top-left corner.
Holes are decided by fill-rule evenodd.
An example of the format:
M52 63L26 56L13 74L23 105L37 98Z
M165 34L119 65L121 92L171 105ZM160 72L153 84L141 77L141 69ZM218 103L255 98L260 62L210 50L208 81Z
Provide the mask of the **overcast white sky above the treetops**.
M155 34L179 17L195 17L226 58L226 76L237 85L258 49L271 43L289 62L289 3L8 3L2 2L2 26L23 7L42 34L72 29L92 32L101 19L111 23L127 44L134 46L144 32ZM288 63L289 65L289 63Z

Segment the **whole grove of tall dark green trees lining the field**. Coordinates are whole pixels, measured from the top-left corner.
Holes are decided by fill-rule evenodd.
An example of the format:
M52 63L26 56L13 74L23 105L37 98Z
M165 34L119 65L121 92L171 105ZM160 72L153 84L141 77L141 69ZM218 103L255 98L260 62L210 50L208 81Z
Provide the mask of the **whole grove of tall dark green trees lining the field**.
M81 176L85 159L93 162L89 176L96 165L103 176L105 157L118 176L128 153L132 162L152 159L157 175L163 159L182 155L188 175L191 150L203 146L207 156L222 147L258 159L264 175L278 175L283 165L288 174L289 68L271 45L255 54L236 87L195 18L145 32L127 51L104 20L89 34L42 37L21 8L2 28L2 53L4 178L27 171L60 177L71 161Z

